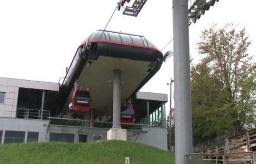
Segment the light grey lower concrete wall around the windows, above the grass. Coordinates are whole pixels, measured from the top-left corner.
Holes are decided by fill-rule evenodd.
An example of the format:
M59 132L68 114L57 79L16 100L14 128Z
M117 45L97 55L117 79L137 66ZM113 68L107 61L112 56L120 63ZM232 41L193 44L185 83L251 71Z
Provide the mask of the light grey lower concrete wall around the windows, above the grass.
M19 118L0 117L0 131L3 131L2 142L4 142L5 131L25 131L39 132L39 142L48 142L50 133L71 133L74 134L74 142L79 142L79 135L87 135L87 142L93 142L93 136L102 136L102 140L107 140L109 128L90 128L75 126L50 126L47 132L48 120L31 120ZM127 137L133 142L144 143L162 150L167 150L167 135L165 128L142 128L142 131L127 130ZM25 139L26 141L26 139Z

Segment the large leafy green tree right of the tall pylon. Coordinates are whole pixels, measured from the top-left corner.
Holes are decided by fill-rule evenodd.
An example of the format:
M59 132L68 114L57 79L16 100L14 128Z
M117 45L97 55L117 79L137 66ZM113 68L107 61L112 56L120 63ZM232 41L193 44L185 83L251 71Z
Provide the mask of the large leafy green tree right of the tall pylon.
M254 127L256 64L247 53L250 43L245 29L236 31L233 24L201 33L198 50L205 57L191 68L195 140Z

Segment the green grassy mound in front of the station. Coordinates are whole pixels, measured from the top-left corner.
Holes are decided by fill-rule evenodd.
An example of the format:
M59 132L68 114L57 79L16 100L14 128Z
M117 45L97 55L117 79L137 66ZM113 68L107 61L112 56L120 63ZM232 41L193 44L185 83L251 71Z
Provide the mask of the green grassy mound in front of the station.
M12 143L0 145L0 163L175 163L174 153L129 141ZM206 164L206 162L205 162Z

